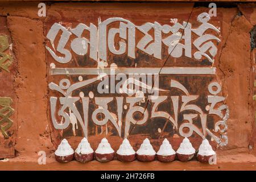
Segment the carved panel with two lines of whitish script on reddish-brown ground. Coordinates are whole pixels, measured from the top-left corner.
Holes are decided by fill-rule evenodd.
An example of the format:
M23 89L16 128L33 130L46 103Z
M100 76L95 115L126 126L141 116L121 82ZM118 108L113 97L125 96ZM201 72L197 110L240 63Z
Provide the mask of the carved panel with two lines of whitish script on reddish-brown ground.
M46 23L55 137L129 137L135 148L145 137L156 145L191 137L225 146L229 109L214 67L221 23L205 12L189 22L103 17Z

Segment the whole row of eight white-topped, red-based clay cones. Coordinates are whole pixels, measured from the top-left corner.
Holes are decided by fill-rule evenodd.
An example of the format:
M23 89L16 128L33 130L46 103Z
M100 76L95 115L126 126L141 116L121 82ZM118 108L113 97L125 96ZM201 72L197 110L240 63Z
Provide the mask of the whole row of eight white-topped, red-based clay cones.
M75 159L82 163L89 162L94 158L100 162L109 162L114 159L115 151L112 149L106 138L101 140L101 143L98 144L98 148L95 152L92 147L90 147L86 138L81 140L75 152L68 141L63 139L55 151L55 159L61 163L69 162L73 160L74 154ZM116 154L117 159L122 162L131 162L136 158L142 162L150 162L155 160L155 158L160 162L172 162L175 160L176 156L180 161L186 162L195 156L196 150L193 148L191 142L189 142L189 139L184 138L176 152L172 149L172 146L167 139L163 140L159 151L155 152L150 140L146 138L143 140L139 150L135 152L129 140L124 139ZM214 156L216 156L215 154L216 153L212 150L212 146L210 146L208 140L204 139L199 147L196 157L200 162L210 163L214 160Z

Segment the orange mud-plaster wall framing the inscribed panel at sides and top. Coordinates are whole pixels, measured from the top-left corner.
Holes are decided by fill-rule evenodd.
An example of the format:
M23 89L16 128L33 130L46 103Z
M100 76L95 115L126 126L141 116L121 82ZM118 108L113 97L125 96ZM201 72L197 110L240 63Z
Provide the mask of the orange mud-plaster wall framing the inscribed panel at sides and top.
M169 3L169 5L174 5ZM165 3L149 4L137 3L47 3L47 11L56 13L55 9L79 9L81 6L97 6L99 9L147 8L157 5L159 8ZM193 3L179 3L184 11L195 11L205 7L196 7ZM254 147L255 121L253 101L253 63L254 52L250 47L250 31L256 25L256 4L240 4L235 7L219 7L222 11L222 47L218 49L216 57L217 77L221 82L230 109L228 120L228 146L218 148L221 155L251 153L256 154ZM0 151L0 158L16 157L19 160L34 160L39 151L46 151L52 156L56 146L52 143L49 130L48 93L47 93L47 64L44 37L44 22L46 18L39 18L38 2L0 3L0 15L6 19L6 26L13 43L14 72L11 72L12 85L15 94L15 114L12 116L14 125L11 144L5 145ZM57 16L58 15L56 13ZM0 73L2 74L2 73ZM5 78L1 78L5 80ZM2 83L1 83L2 84ZM6 87L7 88L7 87ZM6 89L3 86L3 89ZM1 87L2 89L2 87ZM16 117L15 117L16 116ZM2 141L2 140L1 140ZM2 145L2 142L1 142ZM74 148L76 146L73 146ZM14 152L15 151L15 152Z

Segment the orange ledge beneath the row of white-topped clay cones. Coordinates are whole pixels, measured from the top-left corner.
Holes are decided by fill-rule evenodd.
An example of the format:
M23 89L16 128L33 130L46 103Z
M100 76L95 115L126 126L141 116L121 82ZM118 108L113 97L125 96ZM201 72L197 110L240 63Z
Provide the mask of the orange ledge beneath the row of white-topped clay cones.
M75 160L69 163L58 163L53 157L47 158L45 165L39 165L37 159L29 162L22 161L19 158L9 159L8 162L0 162L0 170L86 170L86 171L161 171L161 170L256 170L256 156L250 154L238 154L222 156L217 158L217 164L204 164L197 160L189 162L179 162L175 160L171 163L162 163L157 160L154 162L139 162L135 160L130 163L113 160L111 162L98 162L93 160L88 163L79 163Z

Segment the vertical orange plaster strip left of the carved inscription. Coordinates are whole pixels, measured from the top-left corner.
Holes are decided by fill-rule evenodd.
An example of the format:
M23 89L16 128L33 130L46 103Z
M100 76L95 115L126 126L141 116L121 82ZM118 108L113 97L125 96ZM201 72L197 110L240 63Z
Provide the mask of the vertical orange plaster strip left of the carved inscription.
M7 23L18 57L15 92L18 97L18 131L15 150L21 156L50 151L47 119L47 82L43 23L39 20L8 16ZM26 34L24 34L26 32Z

